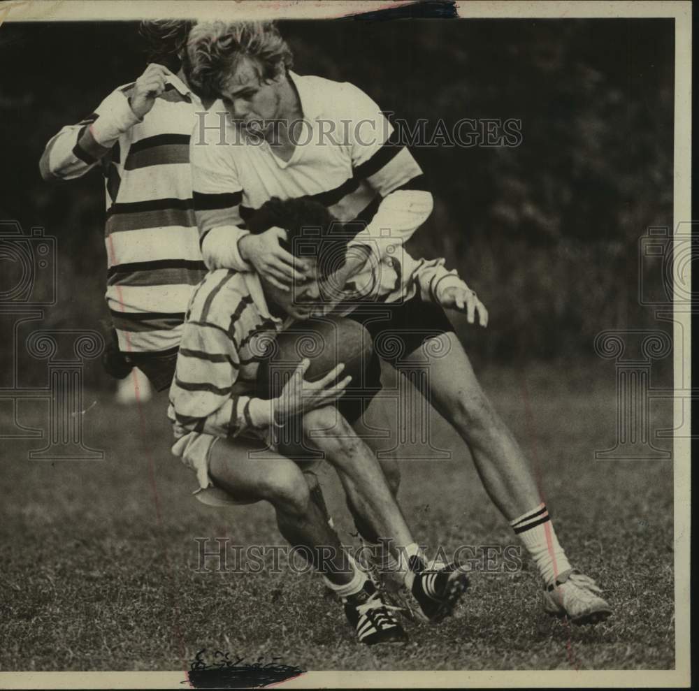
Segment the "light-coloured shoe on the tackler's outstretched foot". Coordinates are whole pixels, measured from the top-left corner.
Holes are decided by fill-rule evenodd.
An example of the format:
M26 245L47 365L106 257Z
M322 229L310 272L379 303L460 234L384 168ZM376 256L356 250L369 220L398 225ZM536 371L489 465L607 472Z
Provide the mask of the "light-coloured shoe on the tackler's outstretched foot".
M601 588L589 576L568 569L544 590L544 609L554 617L574 624L596 624L612 613L600 595Z

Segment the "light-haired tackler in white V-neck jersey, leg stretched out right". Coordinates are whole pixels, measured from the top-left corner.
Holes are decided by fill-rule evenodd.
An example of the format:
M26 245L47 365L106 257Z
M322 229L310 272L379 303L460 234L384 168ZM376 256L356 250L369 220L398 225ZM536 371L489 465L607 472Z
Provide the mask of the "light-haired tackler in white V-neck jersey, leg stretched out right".
M347 82L291 71L291 51L273 24L199 24L187 52L192 83L220 99L196 126L190 154L209 268L256 270L280 288L299 279L298 265L275 242L283 237L280 228L263 235L245 228L273 196L310 196L340 221L365 226L331 277L336 289L372 255L380 261L399 252L426 220L432 198L424 176L410 152L391 142L393 129L380 108ZM475 296L463 304L473 323ZM361 310L355 318L363 319ZM390 330L403 340L403 360L429 358L430 377L422 380L428 388L421 393L466 442L489 497L535 561L545 610L575 623L609 616L598 585L570 565L528 461L482 391L441 307L408 300L388 321L367 326L373 335Z

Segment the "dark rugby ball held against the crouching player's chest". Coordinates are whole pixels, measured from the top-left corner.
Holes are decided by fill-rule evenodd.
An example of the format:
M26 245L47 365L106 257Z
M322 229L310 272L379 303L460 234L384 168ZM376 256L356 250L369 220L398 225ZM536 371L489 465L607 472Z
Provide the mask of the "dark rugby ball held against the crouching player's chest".
M307 381L318 381L340 363L352 381L338 401L338 409L354 423L380 388L380 363L368 330L342 317L296 321L268 346L257 375L260 398L277 398L303 358L310 361ZM332 386L332 385L331 385Z

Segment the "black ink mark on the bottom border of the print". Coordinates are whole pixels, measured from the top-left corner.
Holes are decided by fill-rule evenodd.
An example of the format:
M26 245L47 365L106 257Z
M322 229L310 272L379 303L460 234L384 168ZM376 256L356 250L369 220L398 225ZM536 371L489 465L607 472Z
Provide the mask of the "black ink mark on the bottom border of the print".
M264 657L257 662L246 663L244 657L230 659L230 653L216 650L207 659L206 648L199 650L194 662L189 665L187 681L195 689L259 689L278 684L303 674L305 669L276 662L281 657L272 657L264 664ZM185 682L183 682L185 683Z

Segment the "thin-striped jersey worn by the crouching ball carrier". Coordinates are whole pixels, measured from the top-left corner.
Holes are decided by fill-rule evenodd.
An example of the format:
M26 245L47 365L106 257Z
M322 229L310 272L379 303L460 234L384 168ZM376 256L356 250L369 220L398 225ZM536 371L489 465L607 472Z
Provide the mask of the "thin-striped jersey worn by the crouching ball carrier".
M395 260L382 266L368 262L356 285L360 291L359 286L366 286L377 300L387 293L419 292L422 300L439 303L448 286L466 285L443 265L444 259L416 261L407 254L401 266ZM293 322L270 314L257 273L208 272L189 303L170 388L168 417L175 437L252 432L264 438L260 432L271 425L272 408L271 402L254 397L259 361L270 340Z

